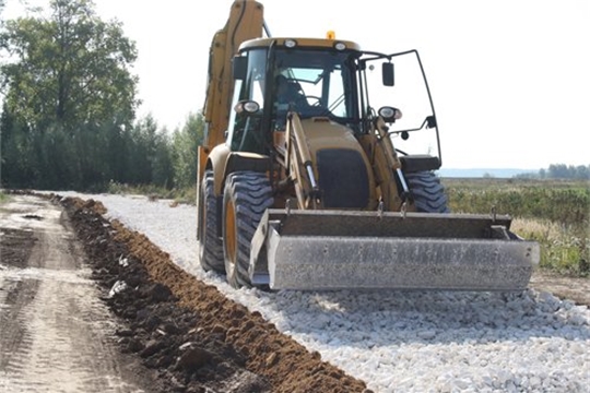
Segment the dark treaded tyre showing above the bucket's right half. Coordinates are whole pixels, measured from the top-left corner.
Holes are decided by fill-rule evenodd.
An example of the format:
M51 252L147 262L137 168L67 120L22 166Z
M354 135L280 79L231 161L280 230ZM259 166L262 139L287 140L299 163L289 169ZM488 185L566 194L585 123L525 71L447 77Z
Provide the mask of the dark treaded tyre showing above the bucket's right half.
M412 191L417 212L449 213L445 188L433 171L405 174L405 181Z

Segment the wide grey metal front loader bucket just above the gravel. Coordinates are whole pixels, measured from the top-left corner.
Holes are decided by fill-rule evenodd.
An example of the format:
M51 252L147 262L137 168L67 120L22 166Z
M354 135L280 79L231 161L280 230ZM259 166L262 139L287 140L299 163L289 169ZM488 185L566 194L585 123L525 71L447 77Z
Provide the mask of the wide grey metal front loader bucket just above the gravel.
M272 289L521 290L540 250L509 226L508 216L269 210L250 278Z

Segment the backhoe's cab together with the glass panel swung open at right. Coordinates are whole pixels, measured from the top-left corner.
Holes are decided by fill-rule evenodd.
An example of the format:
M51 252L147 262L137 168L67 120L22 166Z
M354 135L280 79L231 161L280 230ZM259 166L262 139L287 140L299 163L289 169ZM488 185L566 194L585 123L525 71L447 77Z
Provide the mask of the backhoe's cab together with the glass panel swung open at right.
M357 138L381 118L403 156L432 155L441 163L434 107L415 50L384 55L335 39L257 38L240 46L233 67L234 108L256 104L248 105L256 111L231 112L226 143L234 152L268 155L273 132L285 130L291 111L302 121L343 126Z

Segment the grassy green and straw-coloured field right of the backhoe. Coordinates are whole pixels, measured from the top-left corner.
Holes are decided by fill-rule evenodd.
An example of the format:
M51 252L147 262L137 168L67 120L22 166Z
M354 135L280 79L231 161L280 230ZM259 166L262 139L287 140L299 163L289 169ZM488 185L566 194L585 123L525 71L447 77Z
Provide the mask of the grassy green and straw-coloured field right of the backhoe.
M590 275L590 183L573 180L442 178L456 213L509 214L512 230L536 240L541 266Z

